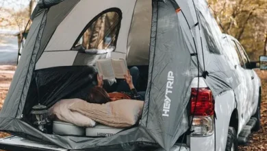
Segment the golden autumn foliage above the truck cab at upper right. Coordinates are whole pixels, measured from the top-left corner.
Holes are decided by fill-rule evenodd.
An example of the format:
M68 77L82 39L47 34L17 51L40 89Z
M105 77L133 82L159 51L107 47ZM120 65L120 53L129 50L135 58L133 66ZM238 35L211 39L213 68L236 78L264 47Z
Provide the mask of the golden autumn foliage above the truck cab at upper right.
M240 40L251 60L266 55L267 0L208 0L225 34Z

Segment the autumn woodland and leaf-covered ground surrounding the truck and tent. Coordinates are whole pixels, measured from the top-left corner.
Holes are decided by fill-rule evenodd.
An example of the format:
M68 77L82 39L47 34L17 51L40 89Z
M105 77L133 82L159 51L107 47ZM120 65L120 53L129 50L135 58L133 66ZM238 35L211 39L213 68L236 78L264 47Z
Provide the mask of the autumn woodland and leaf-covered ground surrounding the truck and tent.
M37 1L0 0L0 110L16 69L18 43L14 35L24 30ZM236 37L251 60L267 55L267 0L208 0L208 5L222 32ZM15 61L5 64L10 56ZM267 71L256 72L262 79L262 128L240 150L267 150ZM0 132L0 138L6 136Z

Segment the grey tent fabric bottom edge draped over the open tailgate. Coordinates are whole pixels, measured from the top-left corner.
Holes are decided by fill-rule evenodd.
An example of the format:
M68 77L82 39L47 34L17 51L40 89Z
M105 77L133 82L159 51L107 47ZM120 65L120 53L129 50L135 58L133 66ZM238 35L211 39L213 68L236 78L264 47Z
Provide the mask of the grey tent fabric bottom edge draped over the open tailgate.
M72 150L81 150L90 148L90 150L94 148L98 148L99 146L105 147L103 150L108 150L109 146L118 146L115 150L128 150L131 148L131 143L136 143L136 145L140 145L140 143L147 143L149 146L155 146L155 141L150 137L147 130L142 126L131 128L129 130L125 130L120 132L118 135L114 135L113 137L100 137L100 138L90 138L90 137L73 137L73 136L60 136L60 135L44 135L42 132L33 128L29 124L21 121L20 119L14 118L1 118L3 121L0 126L1 128L5 128L13 133L26 133L30 135L30 139L41 140L43 143L51 143L60 146L61 148L69 148ZM6 124L12 124L12 126L6 127ZM132 137L128 137L131 135ZM22 136L24 137L24 136ZM97 145L101 144L101 145Z

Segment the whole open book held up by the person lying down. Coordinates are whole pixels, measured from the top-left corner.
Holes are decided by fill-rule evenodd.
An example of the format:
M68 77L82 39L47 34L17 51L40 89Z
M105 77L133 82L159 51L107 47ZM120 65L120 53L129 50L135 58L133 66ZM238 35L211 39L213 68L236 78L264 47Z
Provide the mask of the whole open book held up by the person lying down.
M103 75L103 80L124 79L124 75L127 74L127 63L125 59L100 59L97 60L97 69L99 75Z

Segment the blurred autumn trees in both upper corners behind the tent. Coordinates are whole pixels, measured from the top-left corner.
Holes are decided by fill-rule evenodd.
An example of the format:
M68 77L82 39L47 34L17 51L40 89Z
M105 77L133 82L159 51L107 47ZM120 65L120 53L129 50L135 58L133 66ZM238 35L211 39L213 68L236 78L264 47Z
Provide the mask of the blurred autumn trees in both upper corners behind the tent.
M22 31L38 0L0 0L0 30ZM251 60L267 55L267 0L208 0L222 32L236 37Z

